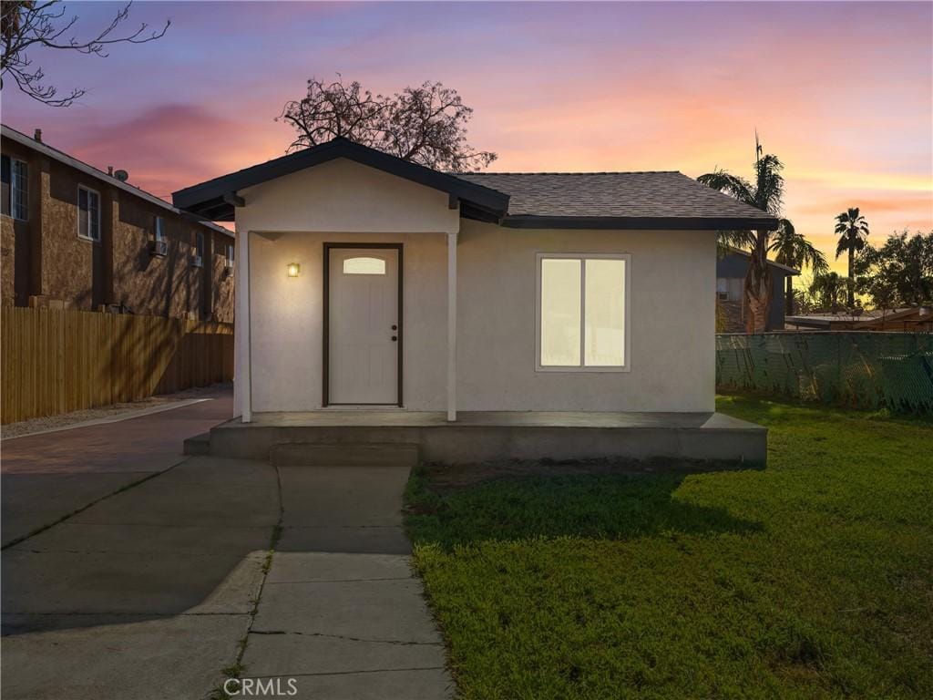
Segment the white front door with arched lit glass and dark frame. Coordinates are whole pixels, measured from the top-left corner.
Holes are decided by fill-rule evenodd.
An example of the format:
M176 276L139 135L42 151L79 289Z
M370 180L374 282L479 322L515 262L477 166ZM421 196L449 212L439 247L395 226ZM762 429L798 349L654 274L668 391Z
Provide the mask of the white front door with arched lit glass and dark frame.
M398 404L399 250L327 253L327 403Z

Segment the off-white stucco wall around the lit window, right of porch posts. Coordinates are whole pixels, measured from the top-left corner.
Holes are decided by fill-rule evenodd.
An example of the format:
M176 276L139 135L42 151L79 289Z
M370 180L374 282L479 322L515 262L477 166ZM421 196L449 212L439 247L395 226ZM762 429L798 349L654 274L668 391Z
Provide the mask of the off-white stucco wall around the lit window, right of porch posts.
M713 231L530 231L462 223L460 411L714 410ZM535 371L537 253L631 254L631 371Z

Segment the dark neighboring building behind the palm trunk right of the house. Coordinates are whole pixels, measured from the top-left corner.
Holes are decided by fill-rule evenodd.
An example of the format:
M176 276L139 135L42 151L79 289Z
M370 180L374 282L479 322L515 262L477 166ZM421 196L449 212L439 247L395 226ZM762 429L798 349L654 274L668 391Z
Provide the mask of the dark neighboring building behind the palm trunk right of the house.
M744 250L729 248L725 255L716 261L716 296L719 303L719 330L724 333L745 332L745 312L742 292L745 287L745 274L748 273L750 256ZM771 266L771 308L765 329L784 329L784 315L787 310L787 277L800 274L800 270L768 260Z

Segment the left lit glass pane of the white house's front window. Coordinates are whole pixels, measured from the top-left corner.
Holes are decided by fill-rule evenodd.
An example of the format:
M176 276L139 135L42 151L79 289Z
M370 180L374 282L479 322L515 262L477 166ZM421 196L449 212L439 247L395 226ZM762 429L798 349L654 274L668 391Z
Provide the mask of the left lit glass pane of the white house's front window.
M541 259L541 366L579 367L580 260Z

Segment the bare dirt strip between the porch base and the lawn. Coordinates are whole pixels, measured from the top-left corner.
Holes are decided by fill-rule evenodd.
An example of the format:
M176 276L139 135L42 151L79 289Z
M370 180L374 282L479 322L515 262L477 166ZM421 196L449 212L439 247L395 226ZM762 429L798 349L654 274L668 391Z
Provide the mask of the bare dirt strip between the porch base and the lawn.
M474 483L507 477L579 476L584 474L697 474L727 469L750 469L752 465L737 462L711 462L703 460L654 458L637 459L580 459L556 461L550 459L522 459L504 462L440 465L426 464L424 474L429 488L443 492Z

